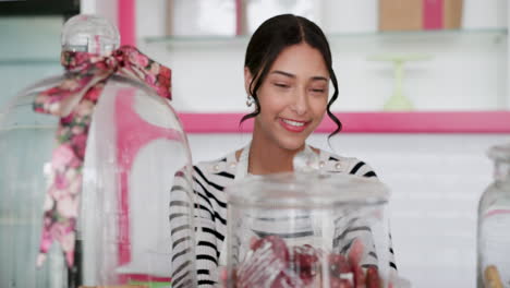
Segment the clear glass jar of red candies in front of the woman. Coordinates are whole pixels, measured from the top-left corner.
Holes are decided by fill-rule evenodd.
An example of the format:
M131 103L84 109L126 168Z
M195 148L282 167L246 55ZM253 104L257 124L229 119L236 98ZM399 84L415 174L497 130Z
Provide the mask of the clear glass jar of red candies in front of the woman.
M227 193L228 287L388 287L388 190L378 180L254 176Z

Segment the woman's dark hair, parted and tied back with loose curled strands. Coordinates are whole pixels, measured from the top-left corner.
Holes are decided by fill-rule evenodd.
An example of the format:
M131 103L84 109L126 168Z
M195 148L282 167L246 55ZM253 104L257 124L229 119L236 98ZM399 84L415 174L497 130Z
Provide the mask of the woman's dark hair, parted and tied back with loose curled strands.
M267 76L272 63L280 52L292 45L306 43L311 47L319 50L329 71L329 77L335 87L335 93L327 106L329 118L337 124L337 129L329 134L328 139L342 130L342 123L331 113L330 107L338 97L338 83L332 70L331 50L323 31L312 21L292 14L282 14L266 20L253 34L250 39L244 67L252 73L253 80L250 83L248 92L255 100L255 111L245 115L241 123L260 113L260 105L257 91Z

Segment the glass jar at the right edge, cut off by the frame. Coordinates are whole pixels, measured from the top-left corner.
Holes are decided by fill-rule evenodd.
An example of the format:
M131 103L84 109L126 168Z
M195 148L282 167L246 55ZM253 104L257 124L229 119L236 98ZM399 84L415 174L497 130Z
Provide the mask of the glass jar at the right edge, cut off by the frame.
M478 204L477 287L510 287L510 145L488 156L495 172Z

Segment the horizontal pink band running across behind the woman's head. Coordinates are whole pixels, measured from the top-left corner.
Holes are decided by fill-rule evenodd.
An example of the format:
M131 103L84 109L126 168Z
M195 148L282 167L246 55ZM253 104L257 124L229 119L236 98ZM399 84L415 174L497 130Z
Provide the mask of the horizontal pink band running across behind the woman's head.
M344 133L510 133L510 111L336 112ZM251 133L243 113L179 113L186 133ZM328 118L316 133L331 133Z

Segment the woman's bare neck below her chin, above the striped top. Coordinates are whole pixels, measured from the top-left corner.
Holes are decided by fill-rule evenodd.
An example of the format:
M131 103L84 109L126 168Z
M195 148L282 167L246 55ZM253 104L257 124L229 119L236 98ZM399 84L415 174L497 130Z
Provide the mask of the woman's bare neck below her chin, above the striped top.
M294 170L294 155L303 148L304 145L295 151L282 148L274 141L264 137L264 133L254 131L248 155L248 173L291 172Z

